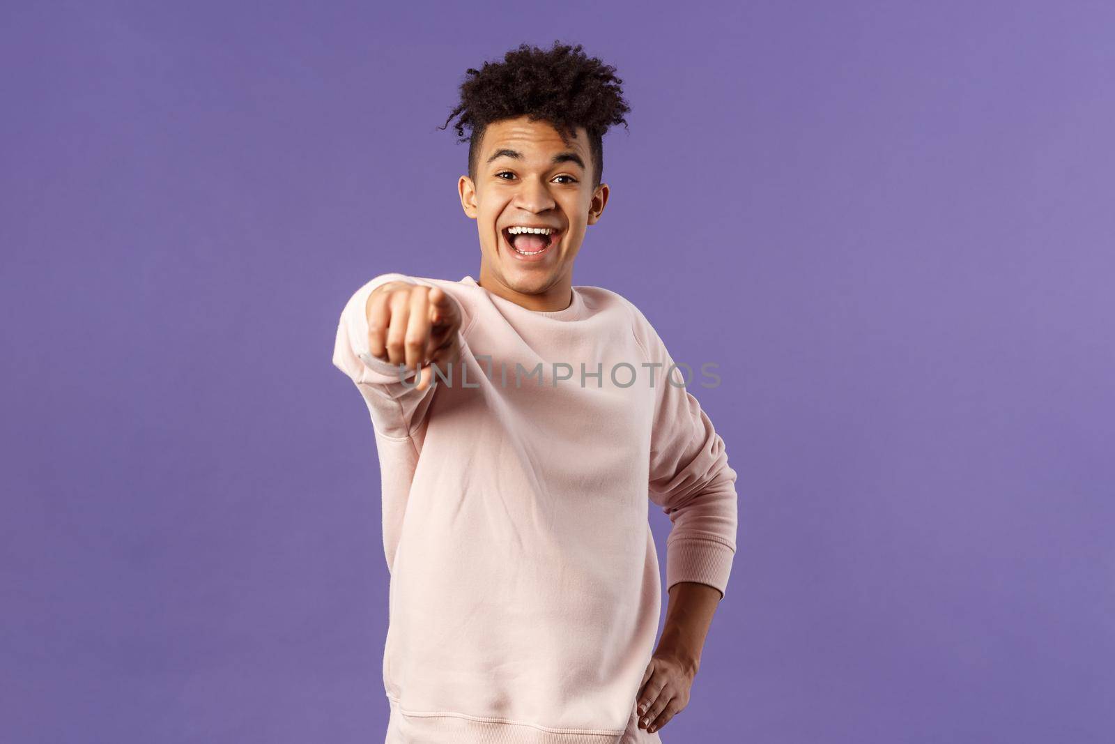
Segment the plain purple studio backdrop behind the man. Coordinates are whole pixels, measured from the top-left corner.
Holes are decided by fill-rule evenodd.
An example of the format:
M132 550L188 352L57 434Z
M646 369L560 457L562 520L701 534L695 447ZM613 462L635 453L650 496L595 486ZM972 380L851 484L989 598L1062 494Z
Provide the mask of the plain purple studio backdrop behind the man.
M381 741L338 315L478 276L435 127L561 38L633 109L574 283L739 474L663 741L1111 741L1109 3L97 4L0 10L0 740Z

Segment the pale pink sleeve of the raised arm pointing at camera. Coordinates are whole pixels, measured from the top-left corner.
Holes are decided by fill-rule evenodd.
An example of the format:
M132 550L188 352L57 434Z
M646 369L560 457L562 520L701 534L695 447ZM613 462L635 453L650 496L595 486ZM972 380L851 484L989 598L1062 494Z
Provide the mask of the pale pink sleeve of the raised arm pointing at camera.
M360 390L376 431L389 439L406 439L421 425L439 380L434 375L432 384L425 390L419 390L414 387L415 376L418 374L416 370L404 368L400 375L397 365L369 354L366 315L368 296L389 281L435 286L417 277L384 273L358 289L345 305L337 325L333 366L345 373ZM456 298L452 299L460 307Z

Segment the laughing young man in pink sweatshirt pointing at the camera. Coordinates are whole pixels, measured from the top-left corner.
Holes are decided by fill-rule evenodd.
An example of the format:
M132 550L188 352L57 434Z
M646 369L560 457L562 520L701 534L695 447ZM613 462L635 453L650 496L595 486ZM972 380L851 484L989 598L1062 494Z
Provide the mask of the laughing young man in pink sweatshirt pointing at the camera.
M387 742L659 742L727 584L736 473L642 312L572 286L629 110L614 68L555 42L468 74L479 280L380 274L333 352L382 477ZM653 654L648 497L672 521Z

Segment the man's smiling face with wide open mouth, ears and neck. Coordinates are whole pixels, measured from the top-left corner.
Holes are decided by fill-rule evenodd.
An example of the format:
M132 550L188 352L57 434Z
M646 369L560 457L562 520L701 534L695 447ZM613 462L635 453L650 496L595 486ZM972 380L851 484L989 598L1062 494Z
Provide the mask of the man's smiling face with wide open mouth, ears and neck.
M531 310L569 306L573 259L608 202L608 185L592 186L592 166L584 127L563 139L526 116L488 124L476 181L457 184L479 233L481 287Z

